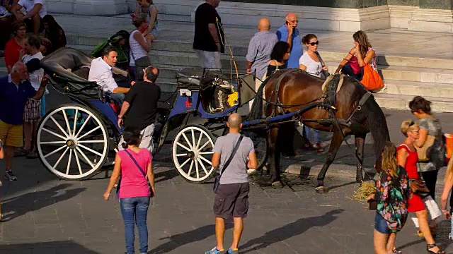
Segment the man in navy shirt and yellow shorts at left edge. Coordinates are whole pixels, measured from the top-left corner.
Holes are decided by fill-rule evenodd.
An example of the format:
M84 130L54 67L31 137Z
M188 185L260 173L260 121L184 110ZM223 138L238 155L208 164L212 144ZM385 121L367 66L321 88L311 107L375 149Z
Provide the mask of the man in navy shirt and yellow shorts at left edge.
M15 147L22 147L23 111L28 98L40 100L45 91L47 76L41 80L38 91L30 84L27 67L17 62L11 74L0 78L0 140L5 145L5 179L16 181L11 171Z

